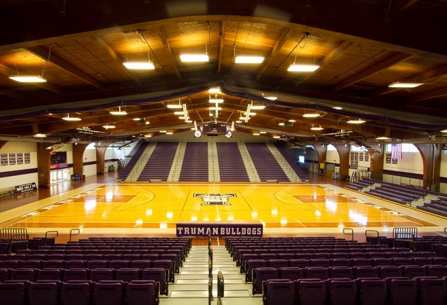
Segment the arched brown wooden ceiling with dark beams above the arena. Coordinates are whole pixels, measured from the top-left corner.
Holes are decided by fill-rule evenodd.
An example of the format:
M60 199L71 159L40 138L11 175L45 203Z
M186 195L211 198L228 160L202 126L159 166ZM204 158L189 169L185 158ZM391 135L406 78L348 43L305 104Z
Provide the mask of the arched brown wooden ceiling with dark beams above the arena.
M446 15L447 3L434 0L0 1L0 140L122 143L161 130L191 133L194 124L167 104L186 104L197 123L232 123L253 102L266 108L235 123L236 132L303 144L375 143L381 135L443 142ZM205 52L209 62L180 60ZM236 64L238 55L265 59ZM148 57L154 70L123 65ZM293 62L320 67L288 72ZM8 77L17 74L47 82ZM425 84L388 88L395 81ZM215 87L225 100L218 118L208 102ZM119 106L126 116L109 114ZM62 121L67 114L82 121ZM359 118L366 123L347 123ZM288 120L293 126L278 125Z

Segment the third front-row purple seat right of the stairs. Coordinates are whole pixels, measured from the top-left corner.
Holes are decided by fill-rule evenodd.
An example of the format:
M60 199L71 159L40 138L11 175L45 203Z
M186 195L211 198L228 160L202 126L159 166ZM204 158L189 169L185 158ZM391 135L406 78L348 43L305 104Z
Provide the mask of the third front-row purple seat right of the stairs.
M356 301L356 281L345 278L329 278L327 290L331 305L354 305Z

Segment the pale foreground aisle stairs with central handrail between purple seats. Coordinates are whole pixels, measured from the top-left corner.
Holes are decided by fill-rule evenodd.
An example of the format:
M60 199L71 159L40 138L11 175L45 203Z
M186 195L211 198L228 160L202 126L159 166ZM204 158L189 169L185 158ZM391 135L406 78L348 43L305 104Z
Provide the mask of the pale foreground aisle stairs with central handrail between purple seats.
M225 305L261 305L262 297L251 294L251 283L239 272L236 262L224 246L213 245L213 296L211 304L217 304L217 274L222 271L225 279ZM175 283L169 285L168 297L160 296L164 304L208 304L208 247L192 246L186 261L175 275Z

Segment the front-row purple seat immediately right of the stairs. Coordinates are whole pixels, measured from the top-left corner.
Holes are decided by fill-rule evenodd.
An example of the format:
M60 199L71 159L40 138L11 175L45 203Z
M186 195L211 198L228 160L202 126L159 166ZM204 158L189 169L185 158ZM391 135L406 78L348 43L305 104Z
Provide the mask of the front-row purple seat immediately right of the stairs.
M265 281L262 300L265 305L293 305L295 302L293 280L272 279Z

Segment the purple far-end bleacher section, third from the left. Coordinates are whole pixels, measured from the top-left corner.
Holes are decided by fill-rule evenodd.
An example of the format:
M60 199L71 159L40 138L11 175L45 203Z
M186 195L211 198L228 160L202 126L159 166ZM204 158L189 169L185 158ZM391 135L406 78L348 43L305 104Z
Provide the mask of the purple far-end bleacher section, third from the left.
M208 181L208 142L187 142L178 181Z

